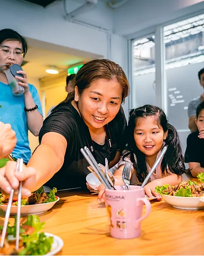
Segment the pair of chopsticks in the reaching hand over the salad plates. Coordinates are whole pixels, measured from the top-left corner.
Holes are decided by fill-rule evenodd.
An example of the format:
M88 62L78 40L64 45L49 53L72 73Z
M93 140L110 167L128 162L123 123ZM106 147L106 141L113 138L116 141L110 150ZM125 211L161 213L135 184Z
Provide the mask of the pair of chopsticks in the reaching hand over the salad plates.
M15 171L20 171L20 172L23 171L23 159L22 158L17 159ZM21 190L22 190L22 181L19 183L19 187L18 187L18 206L17 206L18 208L17 208L17 219L16 219L16 240L15 240L16 251L18 251L18 248L19 248ZM7 226L8 226L8 219L10 217L10 209L11 209L11 204L13 201L13 194L14 194L14 189L11 189L10 197L8 200L8 206L7 206L6 214L5 214L3 231L2 231L1 240L0 240L0 248L3 248L3 246L4 246L4 240L5 240Z

